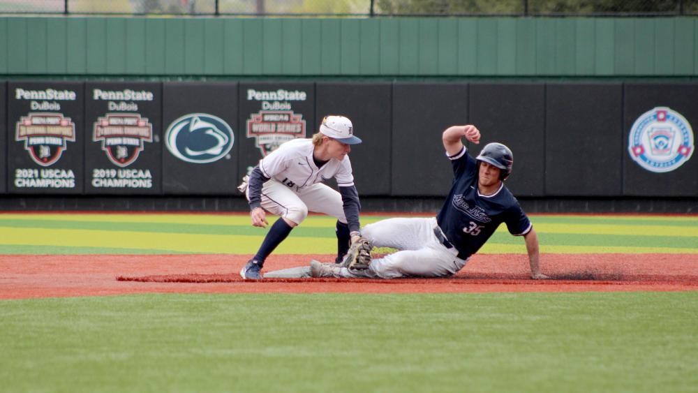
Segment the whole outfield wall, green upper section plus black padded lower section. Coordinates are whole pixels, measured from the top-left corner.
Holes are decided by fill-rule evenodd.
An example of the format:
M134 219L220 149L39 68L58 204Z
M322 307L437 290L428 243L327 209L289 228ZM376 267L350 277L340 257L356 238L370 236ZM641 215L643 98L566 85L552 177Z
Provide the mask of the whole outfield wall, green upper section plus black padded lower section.
M697 74L696 17L0 17L0 209L244 208L252 165L340 113L378 209L438 204L440 132L473 123L539 211L695 212Z

